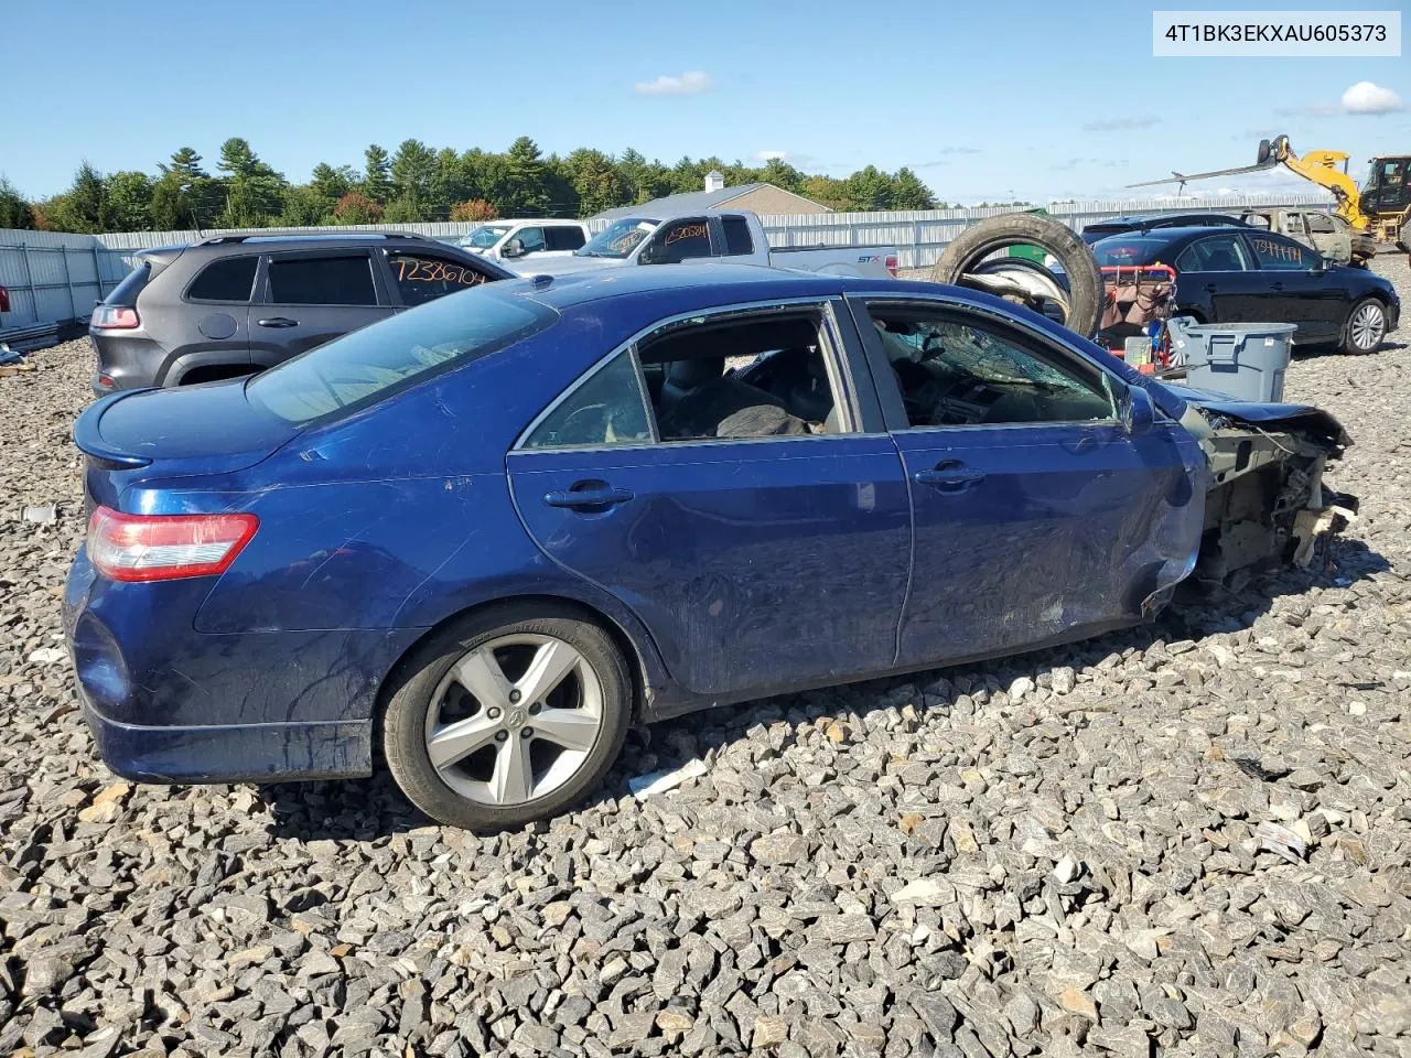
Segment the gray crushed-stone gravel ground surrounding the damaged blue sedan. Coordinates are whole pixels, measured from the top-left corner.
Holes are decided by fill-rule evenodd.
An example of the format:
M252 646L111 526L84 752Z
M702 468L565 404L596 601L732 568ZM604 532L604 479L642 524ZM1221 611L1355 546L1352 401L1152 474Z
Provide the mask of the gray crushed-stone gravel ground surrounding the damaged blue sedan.
M97 763L54 653L89 354L32 360L0 379L0 1054L1411 1055L1404 340L1291 372L1356 439L1329 568L659 725L595 803L492 838L385 779Z

